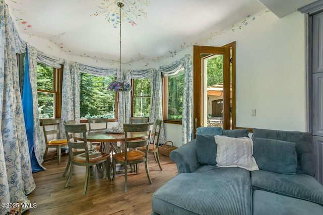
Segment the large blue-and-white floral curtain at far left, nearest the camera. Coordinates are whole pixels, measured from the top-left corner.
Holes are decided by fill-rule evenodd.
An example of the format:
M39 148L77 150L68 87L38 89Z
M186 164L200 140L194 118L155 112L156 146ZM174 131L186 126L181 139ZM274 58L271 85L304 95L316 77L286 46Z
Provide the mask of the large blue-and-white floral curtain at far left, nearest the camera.
M36 185L32 177L22 110L16 53L26 51L8 6L0 0L0 202L29 203L27 194ZM23 208L23 211L28 208ZM10 208L0 208L5 214Z

